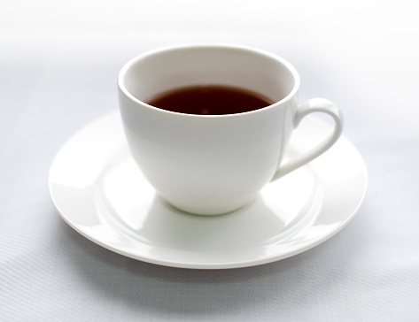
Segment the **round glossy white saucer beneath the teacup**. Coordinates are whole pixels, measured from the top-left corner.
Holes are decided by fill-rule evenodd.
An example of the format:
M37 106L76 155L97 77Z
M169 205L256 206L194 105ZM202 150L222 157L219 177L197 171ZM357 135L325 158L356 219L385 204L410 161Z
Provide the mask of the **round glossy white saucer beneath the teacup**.
M306 119L292 137L298 153L330 127ZM59 151L50 195L61 217L92 242L144 262L221 269L274 262L324 242L355 215L367 188L361 155L345 137L309 165L269 183L236 212L201 217L156 196L129 155L113 113Z

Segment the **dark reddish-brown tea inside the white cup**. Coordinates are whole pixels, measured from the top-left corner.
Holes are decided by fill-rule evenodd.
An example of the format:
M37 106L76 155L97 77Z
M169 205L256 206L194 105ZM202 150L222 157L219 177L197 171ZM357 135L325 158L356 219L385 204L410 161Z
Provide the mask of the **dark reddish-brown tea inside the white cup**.
M178 88L160 94L148 103L179 113L224 115L259 110L274 102L242 88L211 85Z

